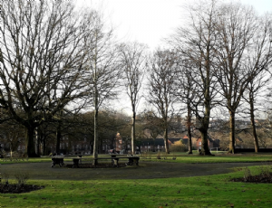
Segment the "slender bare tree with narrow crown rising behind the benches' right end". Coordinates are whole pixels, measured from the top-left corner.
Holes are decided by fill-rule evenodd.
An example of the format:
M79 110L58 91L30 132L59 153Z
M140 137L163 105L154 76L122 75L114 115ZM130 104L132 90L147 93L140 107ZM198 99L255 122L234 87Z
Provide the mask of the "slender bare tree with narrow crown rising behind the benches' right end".
M146 46L141 43L121 45L121 64L124 72L124 86L131 100L131 152L135 153L135 122L137 105L141 99L141 83L147 68Z

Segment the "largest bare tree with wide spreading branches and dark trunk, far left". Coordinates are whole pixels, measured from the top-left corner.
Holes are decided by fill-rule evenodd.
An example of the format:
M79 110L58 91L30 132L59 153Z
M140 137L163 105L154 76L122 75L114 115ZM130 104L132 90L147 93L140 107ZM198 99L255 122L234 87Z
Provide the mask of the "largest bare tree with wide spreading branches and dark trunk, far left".
M0 105L27 129L28 156L37 156L34 129L84 95L92 15L77 15L67 1L2 2Z

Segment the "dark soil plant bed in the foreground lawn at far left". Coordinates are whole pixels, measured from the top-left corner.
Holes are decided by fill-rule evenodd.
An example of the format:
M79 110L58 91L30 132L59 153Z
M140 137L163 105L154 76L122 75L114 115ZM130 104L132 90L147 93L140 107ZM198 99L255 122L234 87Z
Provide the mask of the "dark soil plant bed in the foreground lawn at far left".
M1 194L21 194L43 189L44 186L34 184L0 184Z

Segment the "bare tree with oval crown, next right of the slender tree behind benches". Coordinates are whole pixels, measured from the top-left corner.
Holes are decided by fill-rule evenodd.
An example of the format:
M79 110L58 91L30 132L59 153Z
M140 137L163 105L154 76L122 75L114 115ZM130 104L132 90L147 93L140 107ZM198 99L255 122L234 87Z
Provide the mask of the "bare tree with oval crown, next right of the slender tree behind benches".
M174 113L173 104L176 101L174 88L175 72L177 71L176 53L170 51L154 52L151 59L149 75L149 90L146 99L160 114L163 122L163 139L165 152L170 153L168 144L168 131L170 125L170 114Z

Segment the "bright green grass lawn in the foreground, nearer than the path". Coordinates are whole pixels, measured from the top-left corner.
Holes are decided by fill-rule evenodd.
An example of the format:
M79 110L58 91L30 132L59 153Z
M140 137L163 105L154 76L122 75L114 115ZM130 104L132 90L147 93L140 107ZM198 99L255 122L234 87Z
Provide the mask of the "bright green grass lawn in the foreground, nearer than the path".
M238 168L237 168L238 170ZM250 167L257 174L259 167ZM1 194L1 207L271 207L271 184L230 182L226 175L139 180L29 180L45 185L25 194Z

